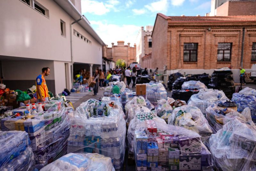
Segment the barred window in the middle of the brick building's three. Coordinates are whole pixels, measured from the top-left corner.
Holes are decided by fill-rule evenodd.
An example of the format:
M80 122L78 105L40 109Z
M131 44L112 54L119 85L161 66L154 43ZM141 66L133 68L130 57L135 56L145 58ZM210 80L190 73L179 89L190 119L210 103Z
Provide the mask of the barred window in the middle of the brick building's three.
M218 43L218 62L231 61L232 43Z

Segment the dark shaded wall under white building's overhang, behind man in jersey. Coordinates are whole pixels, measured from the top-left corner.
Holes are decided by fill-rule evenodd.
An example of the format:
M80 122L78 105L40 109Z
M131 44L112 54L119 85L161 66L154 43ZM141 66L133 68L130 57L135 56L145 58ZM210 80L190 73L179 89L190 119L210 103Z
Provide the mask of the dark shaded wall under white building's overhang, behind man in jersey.
M49 91L55 94L54 62L47 60L2 61L4 84L10 89L27 90L36 85L36 77L42 73L43 67L51 69L50 75L45 77Z

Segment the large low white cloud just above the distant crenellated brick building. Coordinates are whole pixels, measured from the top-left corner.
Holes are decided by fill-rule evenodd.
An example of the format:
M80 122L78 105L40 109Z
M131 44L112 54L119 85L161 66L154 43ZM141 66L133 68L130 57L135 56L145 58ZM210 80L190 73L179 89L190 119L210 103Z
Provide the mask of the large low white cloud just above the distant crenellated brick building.
M130 42L133 46L140 27L135 25L116 25L108 24L106 21L90 21L92 27L103 40L104 43L111 47L111 43L117 44L117 41L122 40L125 44Z

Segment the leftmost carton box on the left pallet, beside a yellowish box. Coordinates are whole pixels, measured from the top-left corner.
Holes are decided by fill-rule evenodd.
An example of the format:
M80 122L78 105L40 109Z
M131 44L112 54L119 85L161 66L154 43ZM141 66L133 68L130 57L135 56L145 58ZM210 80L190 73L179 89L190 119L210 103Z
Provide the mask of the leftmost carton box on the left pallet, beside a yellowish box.
M15 121L20 120L23 116L8 116L1 120L2 131L14 131Z

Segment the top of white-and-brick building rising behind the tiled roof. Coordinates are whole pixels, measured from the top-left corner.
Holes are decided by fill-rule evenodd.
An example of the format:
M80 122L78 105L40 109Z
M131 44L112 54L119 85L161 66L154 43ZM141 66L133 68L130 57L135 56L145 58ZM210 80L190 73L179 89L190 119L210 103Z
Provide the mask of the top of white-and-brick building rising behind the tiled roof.
M206 16L256 15L256 0L212 0Z

